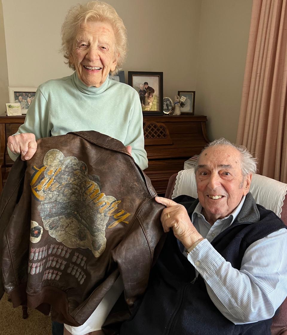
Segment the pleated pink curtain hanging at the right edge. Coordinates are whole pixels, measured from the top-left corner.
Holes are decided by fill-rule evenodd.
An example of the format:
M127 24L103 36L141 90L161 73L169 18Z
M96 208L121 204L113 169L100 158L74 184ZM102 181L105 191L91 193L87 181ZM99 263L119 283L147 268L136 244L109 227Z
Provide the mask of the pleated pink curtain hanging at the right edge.
M236 143L287 182L287 0L254 0Z

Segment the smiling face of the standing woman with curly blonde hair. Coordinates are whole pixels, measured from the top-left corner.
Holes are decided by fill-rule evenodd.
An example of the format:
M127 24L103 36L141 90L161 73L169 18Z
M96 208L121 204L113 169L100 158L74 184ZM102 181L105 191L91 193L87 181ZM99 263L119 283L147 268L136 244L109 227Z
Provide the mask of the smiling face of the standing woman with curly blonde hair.
M82 25L73 44L70 62L86 86L100 87L117 65L112 26L95 21Z

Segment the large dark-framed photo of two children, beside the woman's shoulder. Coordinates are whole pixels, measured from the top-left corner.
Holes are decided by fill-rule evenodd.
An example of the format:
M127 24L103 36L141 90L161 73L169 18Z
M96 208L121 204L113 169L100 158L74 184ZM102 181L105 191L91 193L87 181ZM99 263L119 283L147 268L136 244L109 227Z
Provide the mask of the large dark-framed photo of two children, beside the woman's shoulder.
M139 93L143 115L163 115L162 83L162 72L128 72L128 84Z

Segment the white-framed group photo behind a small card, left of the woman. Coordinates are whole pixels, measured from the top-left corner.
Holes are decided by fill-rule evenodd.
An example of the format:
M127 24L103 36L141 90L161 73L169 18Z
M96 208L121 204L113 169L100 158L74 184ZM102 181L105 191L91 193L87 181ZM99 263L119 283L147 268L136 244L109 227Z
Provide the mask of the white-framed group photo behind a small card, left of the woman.
M36 91L37 87L9 87L10 103L19 103L21 113L26 114Z

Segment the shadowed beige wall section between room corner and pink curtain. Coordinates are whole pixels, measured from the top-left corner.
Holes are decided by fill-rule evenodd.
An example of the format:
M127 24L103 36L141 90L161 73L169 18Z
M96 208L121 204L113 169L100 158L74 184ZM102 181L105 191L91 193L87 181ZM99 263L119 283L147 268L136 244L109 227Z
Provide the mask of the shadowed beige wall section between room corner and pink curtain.
M251 8L251 0L202 1L195 110L207 115L210 140L236 140Z

